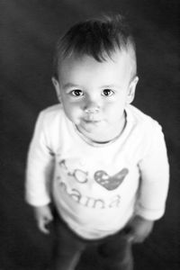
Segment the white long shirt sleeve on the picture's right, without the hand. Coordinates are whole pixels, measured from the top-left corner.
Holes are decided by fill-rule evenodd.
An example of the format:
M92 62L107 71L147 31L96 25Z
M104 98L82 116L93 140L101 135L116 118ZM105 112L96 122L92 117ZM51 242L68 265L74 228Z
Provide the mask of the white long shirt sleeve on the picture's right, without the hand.
M137 213L147 220L158 220L166 208L169 165L164 134L156 121L148 130L148 136L148 150L139 162L141 183Z

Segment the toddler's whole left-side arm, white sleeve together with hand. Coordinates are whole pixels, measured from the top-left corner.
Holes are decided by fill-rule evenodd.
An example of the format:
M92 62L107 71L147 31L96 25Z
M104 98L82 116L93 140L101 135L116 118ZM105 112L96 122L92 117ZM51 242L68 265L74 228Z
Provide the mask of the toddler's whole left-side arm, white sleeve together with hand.
M54 157L44 122L44 113L40 113L28 152L25 199L32 206L40 231L49 233L47 225L53 219L49 202Z

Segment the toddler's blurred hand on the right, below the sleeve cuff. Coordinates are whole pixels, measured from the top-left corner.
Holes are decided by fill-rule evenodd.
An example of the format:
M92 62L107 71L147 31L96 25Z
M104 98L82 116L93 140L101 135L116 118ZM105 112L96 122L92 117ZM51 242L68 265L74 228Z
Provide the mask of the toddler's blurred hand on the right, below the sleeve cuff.
M134 243L141 243L148 237L153 225L153 220L145 220L140 216L135 216L128 226L127 237Z

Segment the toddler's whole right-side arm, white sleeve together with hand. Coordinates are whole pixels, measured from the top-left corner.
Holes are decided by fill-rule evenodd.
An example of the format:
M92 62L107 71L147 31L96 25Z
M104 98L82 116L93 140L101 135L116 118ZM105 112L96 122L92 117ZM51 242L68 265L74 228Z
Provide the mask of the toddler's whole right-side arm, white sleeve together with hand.
M151 138L148 153L139 163L139 199L127 232L137 243L148 237L155 220L163 216L166 207L169 166L164 135L158 125L154 127Z

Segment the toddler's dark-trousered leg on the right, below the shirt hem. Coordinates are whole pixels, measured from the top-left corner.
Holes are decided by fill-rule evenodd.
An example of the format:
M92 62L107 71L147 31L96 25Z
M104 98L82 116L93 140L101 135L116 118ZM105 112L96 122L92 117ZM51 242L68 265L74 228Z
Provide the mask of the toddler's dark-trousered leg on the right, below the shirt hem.
M132 270L131 242L123 232L107 238L98 247L104 270Z

